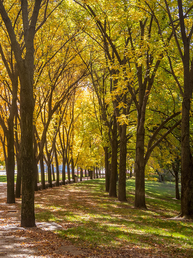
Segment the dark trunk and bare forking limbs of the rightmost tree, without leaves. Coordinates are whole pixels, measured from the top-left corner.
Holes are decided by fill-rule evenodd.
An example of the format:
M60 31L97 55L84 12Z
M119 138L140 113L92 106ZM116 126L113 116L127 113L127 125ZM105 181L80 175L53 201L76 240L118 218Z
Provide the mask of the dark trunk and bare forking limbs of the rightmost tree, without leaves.
M178 14L181 34L181 38L178 39L176 32L177 26L174 25L168 1L164 0L164 2L170 23L172 25L172 31L176 46L178 48L178 53L183 64L184 75L184 90L182 90L181 83L174 73L171 59L169 57L172 74L183 97L181 124L181 211L179 216L184 218L193 218L193 158L190 151L190 99L192 98L193 91L193 55L191 56L190 53L192 52L193 23L190 22L187 26L185 25L187 23L187 13L190 15L190 10L193 8L193 5L186 8L185 5L183 6L182 0L178 0Z

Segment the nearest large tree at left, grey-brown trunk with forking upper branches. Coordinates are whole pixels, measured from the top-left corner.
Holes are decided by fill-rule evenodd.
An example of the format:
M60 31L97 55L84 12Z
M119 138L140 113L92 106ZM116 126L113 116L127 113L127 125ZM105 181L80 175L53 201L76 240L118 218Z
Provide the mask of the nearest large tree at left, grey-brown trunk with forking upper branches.
M48 2L35 0L34 5L28 6L27 1L21 0L21 8L16 17L22 14L22 25L19 26L19 37L15 34L14 15L8 16L3 1L0 2L0 13L5 24L11 47L17 62L20 81L20 116L21 116L21 164L22 164L22 205L21 226L35 226L34 214L34 159L33 159L33 112L34 112L34 37L39 28L46 22ZM14 2L13 2L14 4ZM57 6L57 5L56 5ZM56 6L53 8L55 9ZM45 8L44 8L45 7ZM38 15L42 10L42 21L36 28ZM13 21L13 25L12 25ZM20 44L20 40L22 40ZM23 51L25 49L25 52Z

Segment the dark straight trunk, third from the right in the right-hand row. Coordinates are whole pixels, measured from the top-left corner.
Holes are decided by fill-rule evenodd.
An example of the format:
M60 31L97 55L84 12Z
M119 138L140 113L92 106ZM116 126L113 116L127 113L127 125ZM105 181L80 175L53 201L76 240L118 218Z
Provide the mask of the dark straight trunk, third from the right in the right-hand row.
M127 125L122 125L120 135L120 151L119 151L119 187L118 200L127 202L126 198L126 161L127 161Z

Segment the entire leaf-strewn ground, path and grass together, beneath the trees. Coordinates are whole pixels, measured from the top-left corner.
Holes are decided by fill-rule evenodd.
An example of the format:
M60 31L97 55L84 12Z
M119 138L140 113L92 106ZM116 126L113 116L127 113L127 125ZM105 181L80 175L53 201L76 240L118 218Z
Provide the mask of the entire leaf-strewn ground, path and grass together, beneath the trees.
M192 257L192 221L171 219L180 211L174 183L146 182L147 211L133 208L134 186L127 180L127 203L108 198L104 179L38 191L36 222L63 229L0 229L0 257ZM19 225L21 199L6 204L0 189L0 226Z

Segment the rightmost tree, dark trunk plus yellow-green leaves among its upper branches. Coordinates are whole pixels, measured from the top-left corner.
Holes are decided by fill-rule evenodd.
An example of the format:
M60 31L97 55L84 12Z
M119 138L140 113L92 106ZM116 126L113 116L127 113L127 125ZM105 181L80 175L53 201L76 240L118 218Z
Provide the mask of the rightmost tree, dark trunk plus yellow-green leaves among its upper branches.
M193 91L193 56L192 52L192 34L193 24L189 21L192 15L193 5L189 2L182 3L182 0L170 2L164 0L164 16L167 17L165 24L171 25L170 40L165 40L164 33L160 26L160 19L156 12L149 9L157 23L159 34L165 47L165 52L169 61L170 73L179 87L182 101L182 125L181 125L181 211L179 216L184 218L193 217L193 163L190 151L190 100ZM163 11L163 9L162 9ZM178 15L176 15L178 13ZM172 17L176 17L172 18ZM187 26L186 26L187 24ZM165 26L166 27L166 26ZM174 54L175 53L175 54ZM173 58L173 56L175 56ZM177 61L178 60L178 61ZM178 72L178 67L183 67L183 75Z

